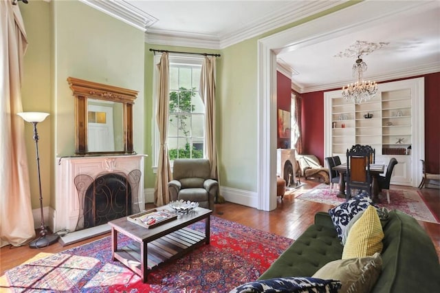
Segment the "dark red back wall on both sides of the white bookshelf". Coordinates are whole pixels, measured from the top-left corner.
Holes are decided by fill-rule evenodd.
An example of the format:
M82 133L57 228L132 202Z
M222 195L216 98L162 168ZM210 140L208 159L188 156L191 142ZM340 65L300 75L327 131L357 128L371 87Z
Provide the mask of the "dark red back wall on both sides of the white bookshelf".
M430 173L440 165L440 72L413 76L425 78L425 161ZM408 78L402 78L408 79ZM394 81L394 80L389 80ZM300 94L303 97L303 153L324 160L324 92ZM420 117L423 119L423 117Z

